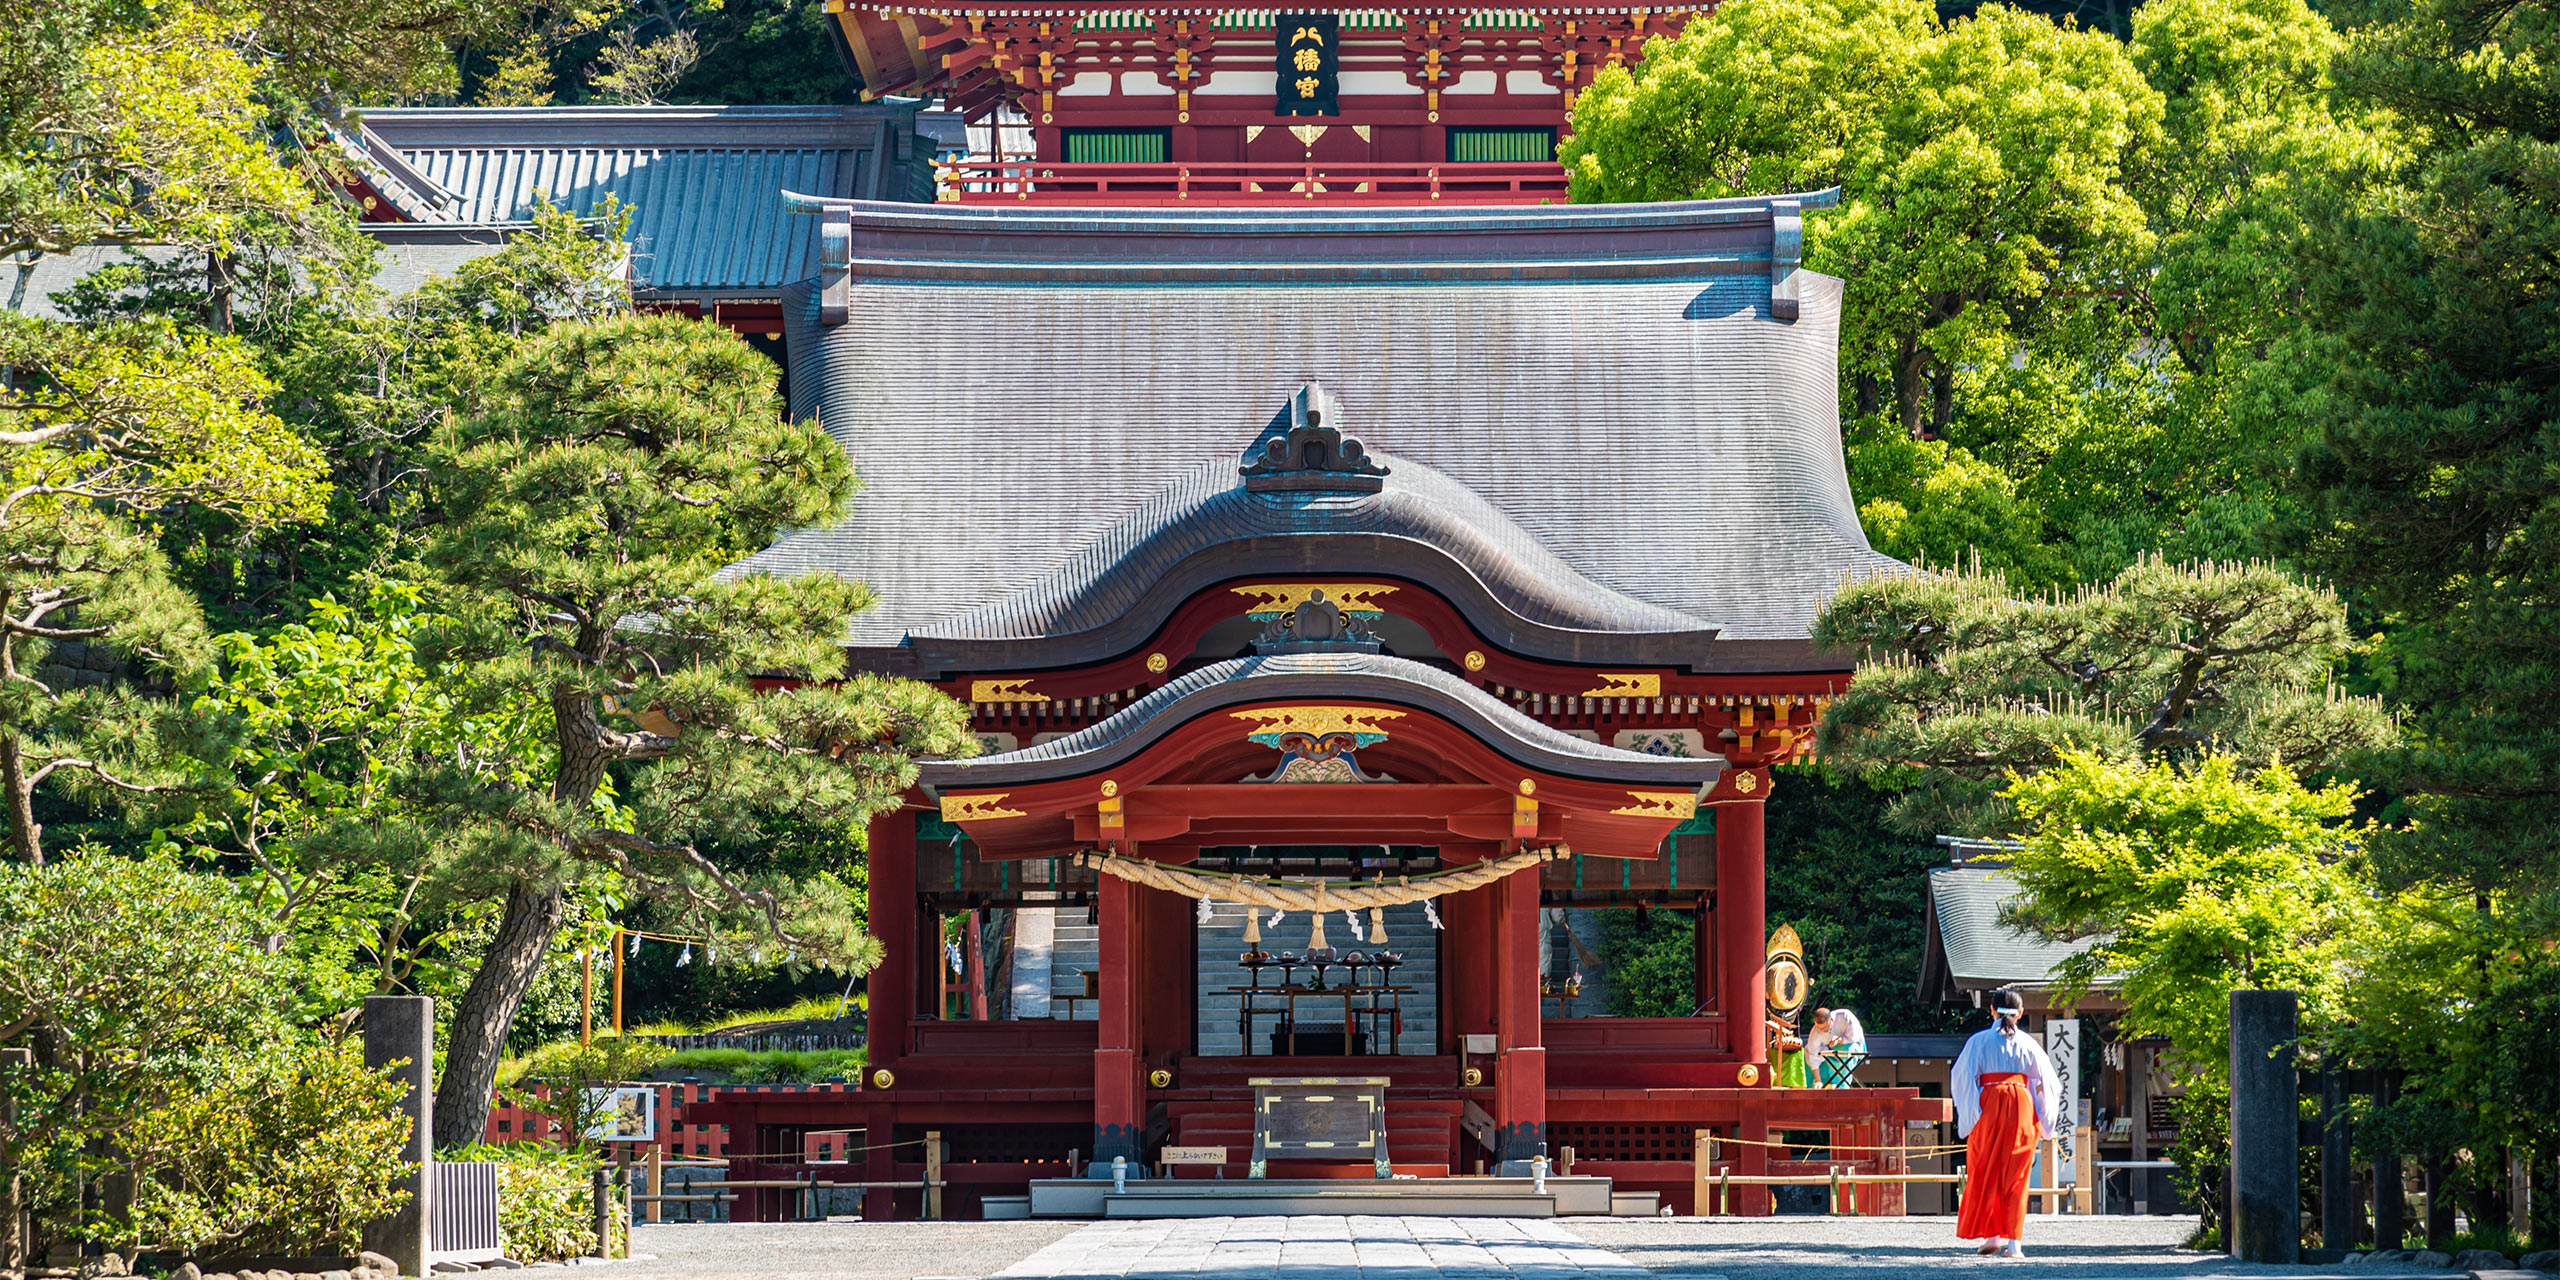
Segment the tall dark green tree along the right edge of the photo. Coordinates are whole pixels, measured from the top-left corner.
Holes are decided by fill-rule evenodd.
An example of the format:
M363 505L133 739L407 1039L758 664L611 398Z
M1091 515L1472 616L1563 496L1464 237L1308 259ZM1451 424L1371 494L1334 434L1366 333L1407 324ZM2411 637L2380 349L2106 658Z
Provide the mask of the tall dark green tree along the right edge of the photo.
M2386 886L2427 899L2437 965L2376 968L2383 1009L2437 1014L2365 1065L2460 1116L2473 1162L2529 1142L2560 1198L2560 1098L2450 1062L2550 1062L2560 937L2560 82L2547 3L2383 0L2335 64L2396 113L2412 156L2327 202L2289 264L2309 333L2271 361L2307 428L2284 545L2383 627L2373 676L2412 732L2358 771L2401 796L2376 832ZM2394 986L2404 991L2391 991ZM2399 1019L2391 1019L2394 1024ZM2522 1083L2522 1080L2519 1080ZM2560 1244L2560 1221L2545 1224Z

